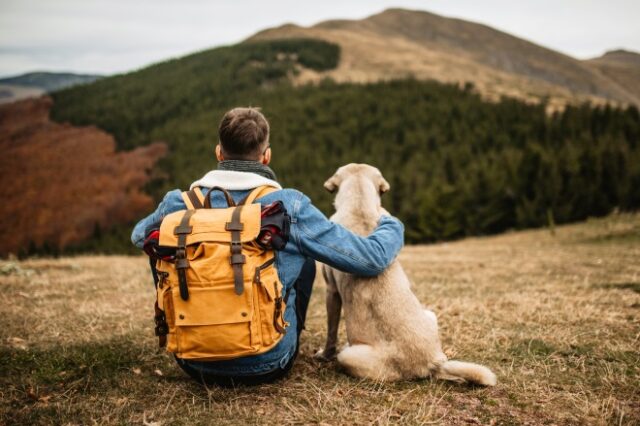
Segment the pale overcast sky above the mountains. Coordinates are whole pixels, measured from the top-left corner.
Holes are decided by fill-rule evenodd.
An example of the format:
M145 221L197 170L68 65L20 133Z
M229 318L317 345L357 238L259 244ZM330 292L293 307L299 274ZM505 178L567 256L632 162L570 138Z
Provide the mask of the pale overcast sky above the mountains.
M0 76L121 73L284 23L390 7L480 22L579 59L640 52L638 0L0 0Z

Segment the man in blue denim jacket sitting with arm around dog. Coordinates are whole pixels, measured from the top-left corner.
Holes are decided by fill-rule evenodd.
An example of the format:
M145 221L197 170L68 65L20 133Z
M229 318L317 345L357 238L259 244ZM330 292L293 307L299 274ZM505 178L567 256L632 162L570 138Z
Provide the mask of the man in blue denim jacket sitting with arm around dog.
M291 216L289 242L276 259L279 278L285 291L289 291L285 311L289 332L273 349L260 355L225 361L176 360L187 374L207 384L267 383L284 377L298 354L316 272L314 261L351 274L378 275L402 248L404 227L397 219L384 216L371 235L361 237L329 221L301 192L282 189L268 167L271 161L269 123L258 109L234 108L227 112L220 122L218 135L219 144L215 149L218 169L195 181L191 188L197 186L206 193L207 188L219 186L230 191L236 202L258 186L277 189L257 202L266 205L280 200ZM210 197L212 207L227 206L219 191L212 191ZM135 226L131 235L133 243L142 248L148 230L157 228L167 214L185 208L180 190L167 193L157 210Z

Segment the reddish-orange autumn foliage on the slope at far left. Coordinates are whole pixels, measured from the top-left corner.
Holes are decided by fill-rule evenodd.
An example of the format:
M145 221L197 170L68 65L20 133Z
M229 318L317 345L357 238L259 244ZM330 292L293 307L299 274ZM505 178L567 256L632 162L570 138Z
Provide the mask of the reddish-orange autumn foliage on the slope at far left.
M0 107L0 255L64 249L152 207L143 192L164 143L116 152L93 127L50 121L50 98Z

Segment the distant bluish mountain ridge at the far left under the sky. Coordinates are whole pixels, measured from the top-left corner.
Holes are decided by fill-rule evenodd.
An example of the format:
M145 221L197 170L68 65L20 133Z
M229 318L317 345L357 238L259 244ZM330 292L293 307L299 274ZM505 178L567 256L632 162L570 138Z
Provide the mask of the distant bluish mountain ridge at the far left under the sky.
M37 97L47 92L88 84L102 78L100 75L32 72L0 79L0 103Z

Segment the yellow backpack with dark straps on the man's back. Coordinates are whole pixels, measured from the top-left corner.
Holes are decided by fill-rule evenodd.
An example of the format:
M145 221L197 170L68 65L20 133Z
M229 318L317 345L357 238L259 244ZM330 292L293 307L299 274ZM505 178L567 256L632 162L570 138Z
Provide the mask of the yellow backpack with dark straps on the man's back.
M275 189L258 187L238 205L226 190L215 190L224 193L228 208L211 208L209 194L195 188L182 194L187 210L167 215L160 225L159 245L174 247L176 256L175 262L156 263L156 334L179 358L264 353L289 325L275 252L255 242L261 206L252 203Z

